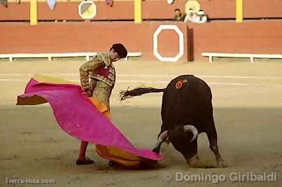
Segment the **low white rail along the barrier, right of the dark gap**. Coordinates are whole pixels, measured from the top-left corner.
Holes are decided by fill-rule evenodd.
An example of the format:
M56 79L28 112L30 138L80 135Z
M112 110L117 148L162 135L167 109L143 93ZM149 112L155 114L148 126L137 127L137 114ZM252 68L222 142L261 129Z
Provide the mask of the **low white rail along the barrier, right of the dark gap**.
M282 55L269 54L245 54L245 53L202 53L202 56L209 57L209 62L213 62L213 57L244 57L250 58L254 62L255 58L282 58Z

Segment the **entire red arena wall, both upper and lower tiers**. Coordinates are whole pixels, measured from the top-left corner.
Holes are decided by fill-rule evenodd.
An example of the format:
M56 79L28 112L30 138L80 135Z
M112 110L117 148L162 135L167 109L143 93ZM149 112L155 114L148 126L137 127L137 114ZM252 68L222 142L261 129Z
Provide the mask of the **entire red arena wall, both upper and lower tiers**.
M146 0L142 3L143 19L165 20L173 16L174 8L184 9L184 0L173 5L167 1ZM280 20L226 22L235 19L236 0L199 0L211 19L223 19L204 24L177 23L184 34L185 53L181 60L206 60L203 52L281 54L282 22ZM124 43L130 52L141 52L143 59L157 60L153 55L153 33L160 25L175 22L153 21L134 24L134 1L114 1L113 7L97 1L97 16L83 22L78 15L77 1L57 1L51 11L45 2L38 2L38 20L66 20L66 22L10 22L29 20L29 3L9 3L0 6L0 53L72 53L104 51L112 43ZM255 8L254 8L255 5ZM244 1L244 19L281 18L282 1ZM70 21L81 22L70 22ZM110 20L111 22L95 22ZM3 22L4 21L4 22ZM159 36L159 52L173 57L178 53L178 35L163 31Z

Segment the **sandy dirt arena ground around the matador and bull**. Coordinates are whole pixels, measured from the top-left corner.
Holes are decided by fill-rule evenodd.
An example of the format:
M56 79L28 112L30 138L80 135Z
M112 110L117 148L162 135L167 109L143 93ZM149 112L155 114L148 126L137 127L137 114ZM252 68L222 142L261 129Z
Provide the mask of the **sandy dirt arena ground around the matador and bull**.
M192 174L217 176L218 186L282 186L282 61L213 63L164 63L140 60L115 63L117 83L111 97L113 123L134 146L152 148L160 130L162 94L149 94L124 102L118 92L128 86L164 88L180 74L204 79L213 92L218 146L227 168L192 169L170 146L162 148L164 159L154 169L130 170L108 167L90 145L87 155L94 165L77 166L80 141L57 125L48 104L15 106L17 95L33 74L46 74L78 83L82 59L0 61L0 186L8 179L55 179L40 186L213 186L213 181L191 181ZM199 157L216 165L206 134L199 135ZM162 179L165 172L172 179ZM240 174L270 174L279 181L234 181ZM182 174L183 180L176 179ZM177 174L177 176L176 176ZM234 175L232 175L234 174ZM230 176L232 175L232 176ZM236 180L236 179L235 179ZM36 185L34 185L36 186Z

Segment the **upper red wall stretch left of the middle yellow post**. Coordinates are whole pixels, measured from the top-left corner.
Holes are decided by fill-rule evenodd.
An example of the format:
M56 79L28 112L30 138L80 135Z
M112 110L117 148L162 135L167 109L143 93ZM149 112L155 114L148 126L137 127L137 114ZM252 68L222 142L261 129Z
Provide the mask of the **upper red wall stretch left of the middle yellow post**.
M93 20L134 20L134 1L118 1L111 8L104 2L96 2L97 15ZM57 2L50 10L45 2L38 2L38 20L82 20L78 15L79 2ZM0 6L0 20L29 20L29 3L10 3Z

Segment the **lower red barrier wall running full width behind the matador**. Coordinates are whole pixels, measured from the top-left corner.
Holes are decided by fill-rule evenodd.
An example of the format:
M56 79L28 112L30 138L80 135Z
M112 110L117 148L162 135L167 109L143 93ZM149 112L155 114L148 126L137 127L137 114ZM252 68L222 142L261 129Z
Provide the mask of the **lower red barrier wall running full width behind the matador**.
M105 51L122 42L143 59L153 55L153 33L164 22L57 22L1 23L0 53L71 53ZM172 22L171 22L172 24ZM187 27L188 26L188 27ZM206 60L203 52L282 54L282 21L179 23L185 38L181 60ZM173 57L178 53L178 35L164 31L159 36L159 52Z

